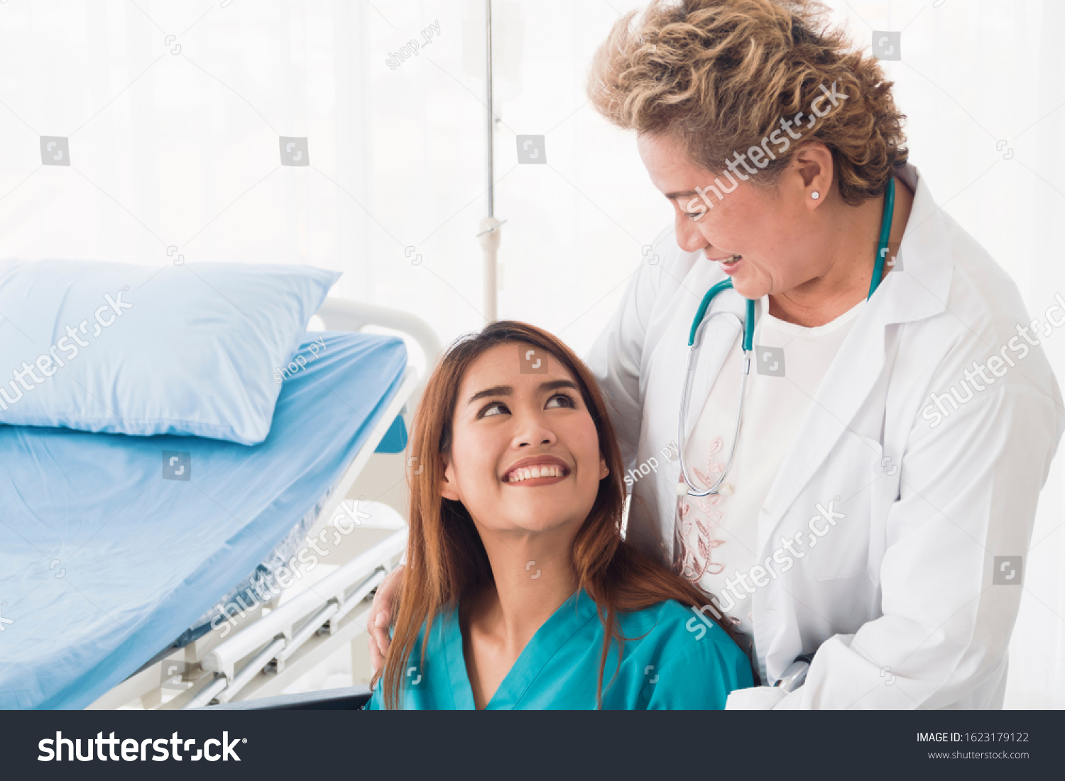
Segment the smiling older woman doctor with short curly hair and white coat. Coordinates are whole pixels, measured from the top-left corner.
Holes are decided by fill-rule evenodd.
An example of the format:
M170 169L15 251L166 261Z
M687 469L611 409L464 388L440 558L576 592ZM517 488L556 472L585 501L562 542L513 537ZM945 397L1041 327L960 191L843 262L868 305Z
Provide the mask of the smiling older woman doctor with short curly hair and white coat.
M1049 326L821 13L654 2L596 55L592 104L675 212L588 355L627 534L747 635L766 685L731 708L1000 708L1065 428ZM804 685L773 687L804 654Z

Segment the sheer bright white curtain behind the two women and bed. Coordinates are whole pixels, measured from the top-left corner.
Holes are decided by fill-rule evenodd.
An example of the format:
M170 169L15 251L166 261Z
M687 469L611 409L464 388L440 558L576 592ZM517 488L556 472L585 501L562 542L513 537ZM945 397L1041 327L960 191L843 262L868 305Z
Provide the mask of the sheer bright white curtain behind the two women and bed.
M493 2L499 316L578 352L672 219L633 137L584 97L595 47L641 4ZM1065 290L1063 3L829 4L866 47L902 32L884 65L912 160L1042 314ZM445 340L475 330L484 23L480 0L6 0L0 259L310 264ZM545 136L546 165L518 163L519 134ZM43 165L40 136L67 138L70 165ZM308 139L309 166L281 165L281 136ZM1065 335L1045 347L1065 378ZM1065 707L1063 465L1026 560L1007 707Z

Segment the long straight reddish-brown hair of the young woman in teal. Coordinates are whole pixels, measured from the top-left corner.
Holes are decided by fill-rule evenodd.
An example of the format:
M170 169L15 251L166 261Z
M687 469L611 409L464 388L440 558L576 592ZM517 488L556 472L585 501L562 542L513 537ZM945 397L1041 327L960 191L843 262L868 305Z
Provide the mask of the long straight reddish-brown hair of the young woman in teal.
M499 320L452 345L429 378L414 415L411 458L407 460L411 467L407 475L410 486L407 566L392 643L383 667L371 682L371 686L376 686L383 676L386 708L399 707L404 670L422 628L425 627L424 663L429 628L437 613L452 603L457 606L462 596L492 581L488 554L470 513L462 502L440 495L444 477L441 455L450 452L452 420L466 370L487 350L509 343L542 350L569 370L595 423L600 454L610 468L610 473L600 481L595 503L573 541L578 585L595 601L606 628L600 658L599 703L602 704L603 671L610 643L625 639L618 631L619 611L637 611L667 599L695 609L710 604L717 611L711 618L736 639L732 625L711 596L622 538L625 484L621 451L594 376L569 347L546 331L524 322Z

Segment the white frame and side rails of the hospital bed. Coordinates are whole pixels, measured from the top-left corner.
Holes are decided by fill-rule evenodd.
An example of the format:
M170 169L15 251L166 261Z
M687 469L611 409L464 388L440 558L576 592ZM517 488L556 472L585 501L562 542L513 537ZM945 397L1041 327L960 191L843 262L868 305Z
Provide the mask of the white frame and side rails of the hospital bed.
M379 327L406 334L423 351L426 370L407 367L380 423L330 492L308 530L308 539L331 524L345 498L377 501L406 518L406 454L374 451L395 417L408 416L417 403L427 372L441 350L432 329L406 312L327 298L317 316L330 331ZM211 631L184 648L174 649L105 693L88 710L176 710L276 696L345 644L351 646L353 665L359 664L365 660L359 647L364 643L361 635L366 629L367 595L398 563L406 546L405 525L370 522L356 529L337 548L340 555L328 562L340 566L313 587L283 602L279 596L247 612L239 629L224 639L219 632ZM180 675L180 680L167 680L171 672ZM165 696L174 692L177 696Z

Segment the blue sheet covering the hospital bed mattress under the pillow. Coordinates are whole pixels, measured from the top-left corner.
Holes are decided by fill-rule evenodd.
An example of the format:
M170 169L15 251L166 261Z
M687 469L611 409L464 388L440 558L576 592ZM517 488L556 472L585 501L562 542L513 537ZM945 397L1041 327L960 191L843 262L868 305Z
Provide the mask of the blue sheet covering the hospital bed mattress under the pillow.
M84 708L121 682L389 428L403 340L315 333L297 354L312 337L253 447L0 426L0 709Z

